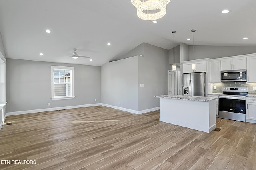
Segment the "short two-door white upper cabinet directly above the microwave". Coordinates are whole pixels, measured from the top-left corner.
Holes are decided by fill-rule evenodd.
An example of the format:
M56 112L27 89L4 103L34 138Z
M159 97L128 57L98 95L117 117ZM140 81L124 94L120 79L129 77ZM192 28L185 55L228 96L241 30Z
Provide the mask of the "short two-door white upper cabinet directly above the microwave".
M246 69L246 57L233 57L221 59L221 70L241 70Z

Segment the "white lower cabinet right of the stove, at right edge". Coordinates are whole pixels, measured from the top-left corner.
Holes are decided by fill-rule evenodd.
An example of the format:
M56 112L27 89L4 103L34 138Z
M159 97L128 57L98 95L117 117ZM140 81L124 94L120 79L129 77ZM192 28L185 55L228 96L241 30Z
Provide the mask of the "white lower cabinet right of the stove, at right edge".
M250 120L256 121L256 98L246 97L246 121Z

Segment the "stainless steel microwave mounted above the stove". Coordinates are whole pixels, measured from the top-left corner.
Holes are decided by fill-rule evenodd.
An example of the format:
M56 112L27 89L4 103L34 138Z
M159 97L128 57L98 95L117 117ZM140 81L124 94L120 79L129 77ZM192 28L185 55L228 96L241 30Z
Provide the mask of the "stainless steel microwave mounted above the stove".
M246 70L221 71L221 82L246 82Z

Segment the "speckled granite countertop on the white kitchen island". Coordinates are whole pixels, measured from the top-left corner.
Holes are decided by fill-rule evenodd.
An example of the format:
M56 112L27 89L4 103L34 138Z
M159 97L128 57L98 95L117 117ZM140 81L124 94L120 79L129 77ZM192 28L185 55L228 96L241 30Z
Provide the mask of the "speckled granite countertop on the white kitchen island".
M178 100L193 100L198 102L208 102L214 99L215 97L204 97L204 96L186 96L186 95L160 95L154 96L155 98L167 98L167 99L178 99Z

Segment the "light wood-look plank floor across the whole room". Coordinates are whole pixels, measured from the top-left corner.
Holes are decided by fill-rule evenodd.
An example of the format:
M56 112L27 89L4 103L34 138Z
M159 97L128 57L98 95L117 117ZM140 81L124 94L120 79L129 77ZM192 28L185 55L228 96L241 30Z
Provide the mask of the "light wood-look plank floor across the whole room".
M159 116L104 106L8 116L0 169L256 170L256 124L217 118L221 130L204 133Z

